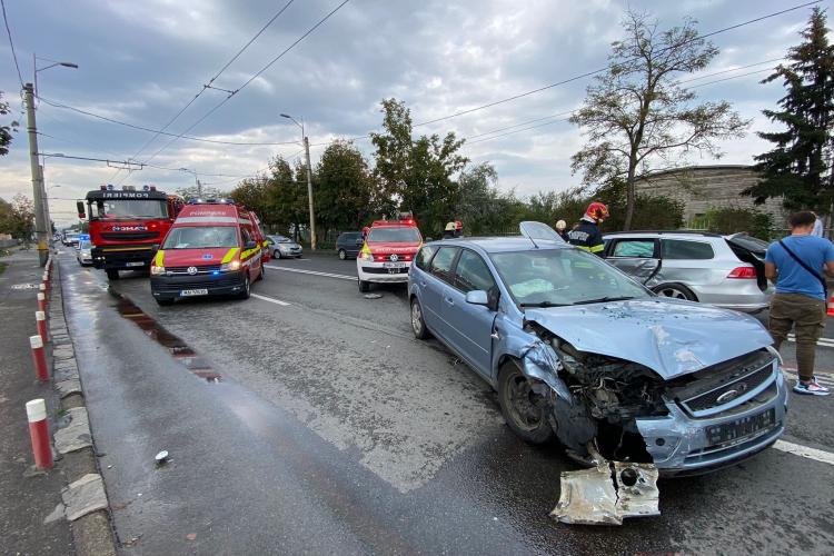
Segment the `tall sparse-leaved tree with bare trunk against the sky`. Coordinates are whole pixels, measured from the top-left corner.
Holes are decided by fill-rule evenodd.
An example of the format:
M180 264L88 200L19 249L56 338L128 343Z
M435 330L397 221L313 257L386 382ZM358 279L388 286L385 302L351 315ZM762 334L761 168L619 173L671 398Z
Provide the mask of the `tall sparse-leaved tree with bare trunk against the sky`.
M718 53L698 37L694 20L666 31L645 14L629 11L623 22L626 37L612 43L606 72L587 88L583 107L570 122L583 128L587 145L572 159L583 170L586 186L625 179L624 229L631 229L637 170L689 151L721 157L718 139L742 137L748 122L729 102L693 106L695 93L681 87L676 76L706 68Z

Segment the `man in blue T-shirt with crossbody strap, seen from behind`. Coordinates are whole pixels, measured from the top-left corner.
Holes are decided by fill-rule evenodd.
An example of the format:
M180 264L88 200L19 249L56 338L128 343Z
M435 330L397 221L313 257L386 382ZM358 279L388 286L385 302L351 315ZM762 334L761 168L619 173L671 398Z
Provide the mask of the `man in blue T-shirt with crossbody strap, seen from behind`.
M765 255L765 276L776 281L768 328L780 348L791 328L796 332L797 394L827 396L814 377L816 341L825 328L828 288L834 277L834 245L813 235L816 216L807 210L791 215L791 235L772 244Z

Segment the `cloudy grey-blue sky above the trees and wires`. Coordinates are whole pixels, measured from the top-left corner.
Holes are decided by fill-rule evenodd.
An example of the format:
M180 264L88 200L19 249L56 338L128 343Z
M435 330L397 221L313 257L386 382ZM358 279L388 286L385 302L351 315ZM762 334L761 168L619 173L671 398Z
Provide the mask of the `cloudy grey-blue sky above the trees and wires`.
M341 0L295 0L214 81L236 90L315 26ZM150 129L160 129L202 90L287 0L6 0L24 81L32 56L77 63L39 72L46 100ZM73 218L72 199L102 183L156 183L176 189L203 183L229 189L238 177L264 169L276 153L297 157L300 131L287 112L304 118L310 142L363 136L380 122L379 101L396 97L415 122L443 118L605 67L620 36L624 11L645 11L662 27L689 16L703 33L791 8L801 0L350 0L259 77L195 126L188 136L214 141L288 143L221 145L178 139L113 125L41 102L40 151L140 160L141 171L106 162L46 159L56 221ZM827 7L831 1L823 2ZM702 99L727 99L752 130L768 122L763 108L780 85L758 85L768 60L796 43L811 8L770 18L712 38L721 54L695 86ZM24 120L8 38L0 41L0 90ZM38 67L49 64L38 61ZM757 64L748 67L751 64ZM725 70L728 70L724 72ZM746 75L752 71L759 72ZM714 75L722 72L719 75ZM732 79L726 79L732 78ZM721 81L718 81L721 80ZM718 82L715 82L718 81ZM515 101L416 128L470 138L473 162L492 161L504 189L519 195L560 190L579 181L569 157L582 133L564 112L576 108L588 79ZM168 131L181 133L227 97L203 90ZM559 115L560 117L554 117ZM527 123L526 123L527 122ZM496 131L498 130L498 131ZM512 132L512 133L510 133ZM150 141L153 139L152 141ZM149 142L150 141L150 142ZM371 155L368 140L356 145ZM719 163L749 163L764 149L751 133L724 146ZM314 147L314 165L322 147ZM695 159L696 163L715 163ZM168 169L163 169L168 168ZM58 187L60 186L60 188ZM0 197L31 195L26 129L0 159Z

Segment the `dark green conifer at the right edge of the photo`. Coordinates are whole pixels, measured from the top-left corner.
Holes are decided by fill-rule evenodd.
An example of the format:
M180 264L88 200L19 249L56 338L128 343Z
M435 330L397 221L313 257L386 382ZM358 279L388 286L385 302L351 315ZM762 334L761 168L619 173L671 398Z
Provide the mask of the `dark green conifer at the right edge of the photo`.
M790 63L764 79L782 79L787 93L781 110L763 110L784 131L758 132L775 148L754 157L762 180L746 189L756 203L784 196L790 210L831 210L834 193L832 125L834 125L834 47L828 43L825 12L817 8L802 31L804 42L788 50Z

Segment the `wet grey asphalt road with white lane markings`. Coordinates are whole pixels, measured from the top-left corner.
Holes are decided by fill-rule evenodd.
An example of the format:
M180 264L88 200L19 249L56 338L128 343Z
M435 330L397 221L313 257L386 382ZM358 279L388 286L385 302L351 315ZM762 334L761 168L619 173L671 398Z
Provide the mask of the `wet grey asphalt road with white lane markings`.
M834 546L834 465L776 449L662 481L659 517L553 523L559 473L575 466L556 446L518 441L485 383L413 338L404 288L366 299L353 260L274 261L258 297L163 308L147 278L125 274L108 290L103 272L69 254L62 268L126 554ZM824 380L834 380L832 354L820 348ZM784 440L834 451L832 398L794 396ZM157 468L160 449L172 460Z

